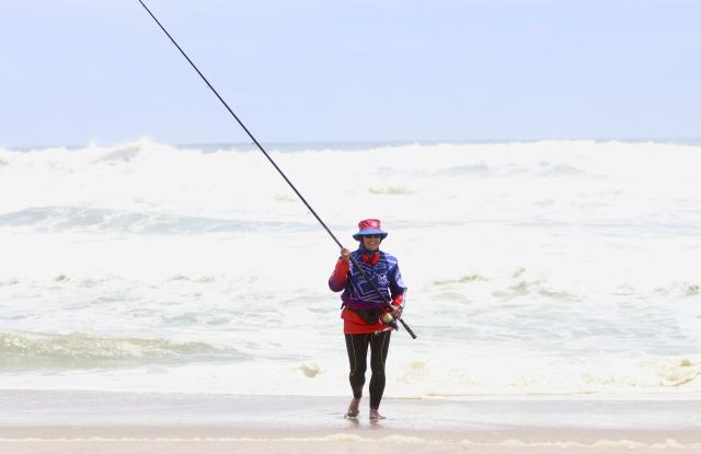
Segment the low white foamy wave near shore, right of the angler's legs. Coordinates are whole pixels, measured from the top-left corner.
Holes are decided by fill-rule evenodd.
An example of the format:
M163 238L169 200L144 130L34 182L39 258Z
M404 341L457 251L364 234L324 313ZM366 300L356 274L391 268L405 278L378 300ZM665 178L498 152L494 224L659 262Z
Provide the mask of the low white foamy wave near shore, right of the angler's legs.
M395 379L397 380L397 379ZM401 365L395 387L404 396L589 395L698 393L698 354L650 359L590 357L579 361L548 358L490 358L411 361Z

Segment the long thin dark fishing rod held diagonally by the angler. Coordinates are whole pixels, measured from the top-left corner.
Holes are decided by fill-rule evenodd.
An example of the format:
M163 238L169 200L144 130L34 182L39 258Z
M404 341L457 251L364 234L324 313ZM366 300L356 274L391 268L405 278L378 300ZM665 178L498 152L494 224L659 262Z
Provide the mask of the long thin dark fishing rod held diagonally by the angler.
M338 241L338 238L336 238L336 235L333 234L333 232L331 231L331 229L329 229L329 226L324 223L324 221L322 221L322 219L319 217L319 214L317 214L317 211L314 211L313 208L311 208L311 205L309 205L309 202L307 201L307 199L304 198L304 196L301 195L301 193L299 190L297 190L297 188L295 187L295 185L292 184L292 182L287 177L287 175L285 175L285 173L283 172L283 170L277 165L277 163L275 163L275 161L273 160L273 158L271 158L271 155L267 153L267 151L265 151L265 149L263 148L263 145L255 139L255 137L253 137L253 135L251 133L251 131L249 130L249 128L245 127L245 125L243 124L243 121L241 121L241 119L237 116L237 114L233 113L233 110L231 109L231 107L229 107L229 104L227 104L226 101L223 101L223 97L221 97L221 95L219 94L219 92L217 92L217 90L211 85L211 83L209 83L209 81L207 80L207 78L205 77L205 74L202 73L202 71L197 68L197 66L193 62L193 60L189 59L189 57L187 56L187 54L185 54L185 51L182 49L182 47L180 47L180 45L175 42L175 39L171 36L170 33L168 33L168 31L165 30L165 27L161 24L161 22L156 18L156 15L153 15L153 13L151 12L151 10L149 10L149 8L146 5L146 3L143 3L142 0L137 0L139 3L141 3L141 7L143 7L143 9L146 10L147 13L149 13L149 15L153 19L153 21L158 24L158 26L163 31L163 33L165 33L165 36L169 37L169 39L171 40L171 43L173 43L173 45L177 48L177 50L180 50L180 53L183 55L183 57L185 57L185 59L187 60L187 62L189 63L189 66L193 67L193 69L197 72L197 74L199 74L199 77L202 78L203 81L205 81L205 83L207 84L207 86L209 86L209 90L211 90L211 92L215 94L215 96L217 96L217 98L221 102L221 104L226 107L227 110L229 110L229 114L231 114L231 116L233 117L233 119L237 120L237 123L239 124L239 126L241 126L241 128L245 131L246 135L249 135L249 137L251 138L251 140L253 140L253 143L255 143L255 145L258 148L258 150L261 150L261 152L265 155L265 158L267 158L267 160L271 162L271 164L273 164L273 167L275 167L275 170L277 171L277 173L280 174L280 176L285 179L285 182L287 182L287 184L289 185L290 188L292 188L292 190L295 191L295 194L297 194L297 197L299 197L299 199L302 201L302 203L304 203L304 206L309 209L309 211L314 216L314 218L317 218L317 221L319 221L319 223L321 224L321 226L324 228L324 230L329 233L329 235L331 235L331 237L333 238L333 241L338 245L338 247L343 248L343 244L341 244L341 242ZM370 282L370 284L372 286L372 288L379 293L380 298L382 298L382 301L384 301L384 304L391 309L392 311L395 310L394 306L392 306L392 304L387 300L386 294L382 293L380 291L380 289L378 289L378 287L375 284L375 282L372 282L370 279L368 279L368 277L365 275L365 271L363 270L363 268L360 267L360 265L357 263L357 260L353 257L350 257L350 261L353 263L353 265L360 271L360 276L363 276L363 278L365 280L367 280L368 282ZM416 335L414 334L414 331L412 331L412 329L409 327L409 325L406 325L406 323L401 318L401 317L397 317L397 319L399 319L402 324L402 326L404 327L404 329L406 329L406 333L409 333L411 335L412 338L416 339Z

